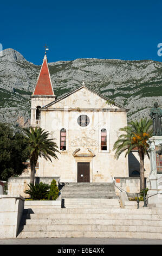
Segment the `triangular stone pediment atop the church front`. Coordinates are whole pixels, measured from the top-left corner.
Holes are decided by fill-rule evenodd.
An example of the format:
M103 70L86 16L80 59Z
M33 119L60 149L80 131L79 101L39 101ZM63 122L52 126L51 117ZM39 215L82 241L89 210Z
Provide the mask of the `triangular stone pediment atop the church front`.
M60 99L49 103L44 108L72 108L72 109L125 109L93 89L81 86ZM125 109L126 110L126 109Z

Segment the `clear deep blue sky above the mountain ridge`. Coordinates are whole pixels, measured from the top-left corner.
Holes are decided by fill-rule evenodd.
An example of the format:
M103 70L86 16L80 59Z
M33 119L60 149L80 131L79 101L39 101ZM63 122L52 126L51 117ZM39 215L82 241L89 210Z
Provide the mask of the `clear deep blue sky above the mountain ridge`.
M34 64L76 58L162 61L162 1L1 1L3 48ZM162 53L162 51L161 51Z

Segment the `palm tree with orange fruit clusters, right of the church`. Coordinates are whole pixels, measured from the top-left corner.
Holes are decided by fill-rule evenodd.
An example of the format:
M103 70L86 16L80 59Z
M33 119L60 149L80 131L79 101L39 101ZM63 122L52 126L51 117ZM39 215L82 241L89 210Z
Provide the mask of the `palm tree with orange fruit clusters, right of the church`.
M140 158L140 191L145 188L145 175L144 175L144 159L145 155L148 156L147 144L148 138L152 136L152 120L147 118L141 119L140 121L131 121L128 126L119 129L124 131L124 134L118 137L118 140L114 143L113 150L115 151L115 158L119 159L121 153L126 151L126 155L131 153L131 150L137 148Z

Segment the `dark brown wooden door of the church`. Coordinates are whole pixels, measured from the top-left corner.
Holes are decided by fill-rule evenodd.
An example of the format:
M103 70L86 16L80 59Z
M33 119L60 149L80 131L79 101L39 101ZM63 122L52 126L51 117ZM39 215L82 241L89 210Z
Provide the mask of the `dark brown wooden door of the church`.
M77 182L90 182L89 163L77 163Z

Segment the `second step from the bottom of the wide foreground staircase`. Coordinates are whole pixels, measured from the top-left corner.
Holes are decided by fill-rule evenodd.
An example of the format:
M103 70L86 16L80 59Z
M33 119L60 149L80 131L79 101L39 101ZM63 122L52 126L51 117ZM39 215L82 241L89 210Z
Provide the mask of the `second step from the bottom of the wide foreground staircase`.
M25 225L24 231L123 231L162 233L162 227L138 225Z

